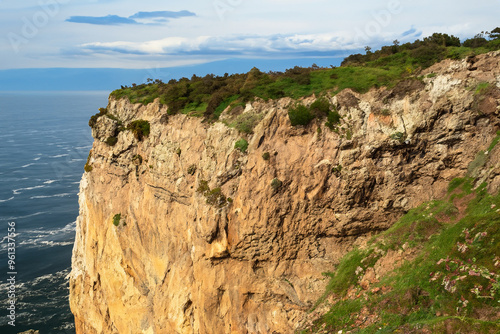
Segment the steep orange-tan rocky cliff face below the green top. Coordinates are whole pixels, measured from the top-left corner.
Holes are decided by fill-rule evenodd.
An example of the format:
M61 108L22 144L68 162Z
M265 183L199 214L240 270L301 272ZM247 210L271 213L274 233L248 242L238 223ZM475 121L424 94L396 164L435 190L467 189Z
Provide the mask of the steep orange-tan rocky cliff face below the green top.
M423 75L330 97L336 131L318 119L292 127L286 98L233 110L261 119L252 135L110 99L114 117L97 119L80 184L77 333L293 333L322 273L353 245L444 195L468 168L498 189L499 165L471 162L499 129L500 53ZM118 120L137 119L149 136L120 131L105 143ZM241 137L246 153L234 148Z

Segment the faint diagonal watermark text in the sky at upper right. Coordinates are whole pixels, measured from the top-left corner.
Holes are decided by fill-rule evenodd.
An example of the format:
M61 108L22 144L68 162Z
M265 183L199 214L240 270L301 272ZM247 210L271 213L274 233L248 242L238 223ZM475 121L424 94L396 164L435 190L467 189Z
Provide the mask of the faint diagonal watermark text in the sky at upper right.
M390 0L384 9L373 11L371 13L372 19L366 22L363 29L359 27L355 28L354 42L356 43L368 43L374 37L380 36L380 33L384 28L387 28L394 15L401 14L403 12L403 6L399 0Z

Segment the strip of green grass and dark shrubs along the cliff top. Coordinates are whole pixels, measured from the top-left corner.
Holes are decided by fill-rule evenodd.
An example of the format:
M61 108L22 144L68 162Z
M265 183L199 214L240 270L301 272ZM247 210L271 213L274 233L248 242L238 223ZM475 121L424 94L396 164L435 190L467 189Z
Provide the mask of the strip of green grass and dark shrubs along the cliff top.
M437 33L403 45L394 41L393 45L375 52L367 47L366 54L351 55L337 68L313 65L268 73L253 68L245 74L193 75L191 79L172 79L168 83L148 79L147 84L122 86L111 96L116 99L127 97L132 103L142 104L159 98L162 104L168 105L170 114L218 119L227 106L241 105L255 97L297 99L327 91L336 94L345 88L363 93L373 87L392 87L443 59L462 59L500 49L499 32L500 28L496 28L489 35L479 34L463 43L457 37Z

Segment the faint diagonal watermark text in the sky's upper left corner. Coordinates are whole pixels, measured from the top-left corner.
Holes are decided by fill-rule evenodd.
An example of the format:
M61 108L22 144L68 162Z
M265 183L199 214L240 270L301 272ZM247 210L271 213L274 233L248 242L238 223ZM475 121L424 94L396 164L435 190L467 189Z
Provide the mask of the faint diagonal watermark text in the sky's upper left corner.
M40 33L40 30L46 27L50 20L59 14L61 5L67 4L70 0L40 0L39 9L31 16L21 18L21 29L18 32L9 32L7 39L10 42L12 50L19 53L20 47L28 44Z

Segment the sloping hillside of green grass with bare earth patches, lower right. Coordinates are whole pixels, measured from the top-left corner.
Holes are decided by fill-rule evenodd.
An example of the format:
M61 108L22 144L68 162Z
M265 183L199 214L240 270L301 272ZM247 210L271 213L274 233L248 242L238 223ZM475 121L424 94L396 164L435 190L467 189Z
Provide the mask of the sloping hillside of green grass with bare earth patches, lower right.
M301 333L500 333L500 194L455 179L328 275Z

